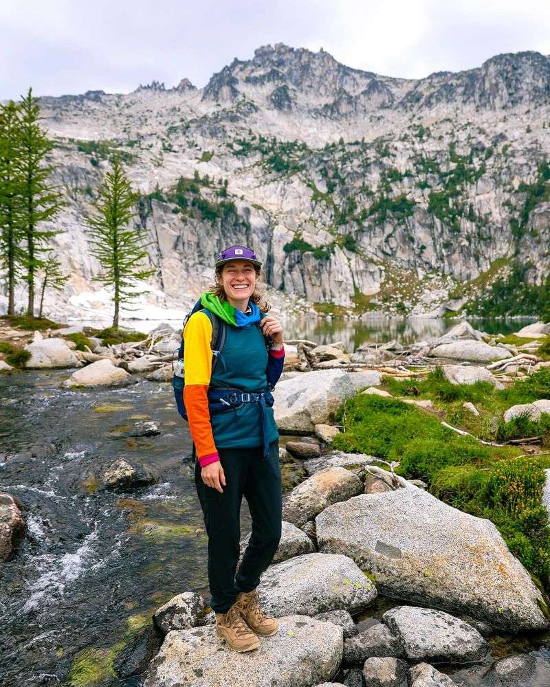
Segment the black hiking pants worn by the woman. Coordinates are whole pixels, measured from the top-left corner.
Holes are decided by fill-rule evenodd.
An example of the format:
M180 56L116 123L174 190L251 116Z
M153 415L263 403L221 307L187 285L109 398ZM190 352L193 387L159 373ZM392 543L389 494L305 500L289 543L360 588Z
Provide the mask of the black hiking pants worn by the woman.
M223 494L206 486L198 461L195 466L195 486L208 534L210 606L216 613L227 613L239 592L256 589L278 548L283 509L278 453L278 441L270 444L265 458L263 447L218 449L225 473ZM252 516L252 534L236 570L243 495Z

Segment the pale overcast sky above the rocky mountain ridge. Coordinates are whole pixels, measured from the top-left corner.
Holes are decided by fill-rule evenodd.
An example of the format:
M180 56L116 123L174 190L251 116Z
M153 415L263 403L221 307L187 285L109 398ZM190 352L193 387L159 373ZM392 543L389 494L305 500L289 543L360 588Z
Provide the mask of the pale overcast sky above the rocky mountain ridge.
M549 0L1 0L0 100L140 83L203 87L267 43L421 78L503 52L550 54Z

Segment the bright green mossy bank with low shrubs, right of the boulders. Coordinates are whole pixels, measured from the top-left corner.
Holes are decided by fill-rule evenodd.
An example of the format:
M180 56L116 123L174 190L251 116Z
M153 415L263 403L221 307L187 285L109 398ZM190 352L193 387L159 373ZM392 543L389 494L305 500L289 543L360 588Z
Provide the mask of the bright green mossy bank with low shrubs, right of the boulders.
M430 398L436 411L428 413L397 398L358 394L340 410L344 432L333 447L399 461L401 475L426 480L438 498L492 520L511 551L549 591L550 528L542 486L544 469L550 468L550 416L538 422L522 416L510 423L502 416L516 403L550 398L550 369L503 390L487 382L452 385L439 368L414 382L386 378L383 388L393 396ZM474 403L480 415L464 409L465 401ZM529 449L487 446L443 427L441 420L485 440L542 439Z

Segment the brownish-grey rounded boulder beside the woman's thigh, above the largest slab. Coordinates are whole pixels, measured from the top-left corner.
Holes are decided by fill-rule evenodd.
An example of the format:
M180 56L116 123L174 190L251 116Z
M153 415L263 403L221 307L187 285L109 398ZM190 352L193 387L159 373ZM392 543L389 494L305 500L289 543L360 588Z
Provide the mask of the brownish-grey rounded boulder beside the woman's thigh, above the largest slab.
M295 486L283 504L283 519L301 527L327 506L363 491L359 477L340 467L325 468Z

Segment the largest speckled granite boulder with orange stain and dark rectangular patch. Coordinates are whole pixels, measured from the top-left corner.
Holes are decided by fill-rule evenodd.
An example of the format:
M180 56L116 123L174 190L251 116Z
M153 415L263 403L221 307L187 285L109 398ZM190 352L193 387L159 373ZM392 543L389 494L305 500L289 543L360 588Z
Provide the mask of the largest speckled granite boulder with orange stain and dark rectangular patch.
M410 486L355 496L316 517L320 551L351 556L380 591L513 632L548 627L544 600L489 520Z

